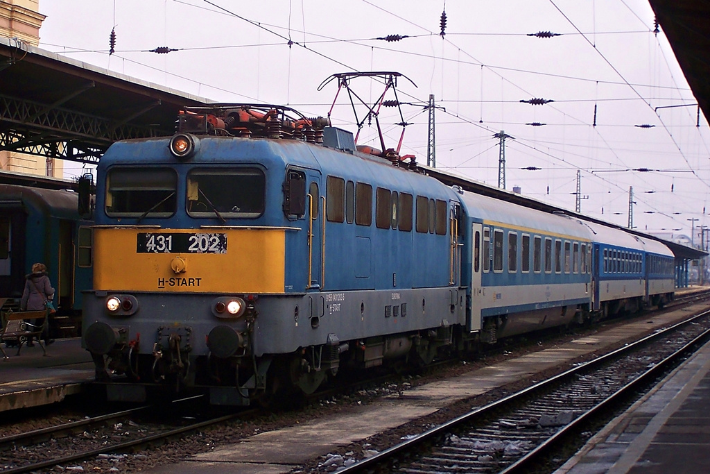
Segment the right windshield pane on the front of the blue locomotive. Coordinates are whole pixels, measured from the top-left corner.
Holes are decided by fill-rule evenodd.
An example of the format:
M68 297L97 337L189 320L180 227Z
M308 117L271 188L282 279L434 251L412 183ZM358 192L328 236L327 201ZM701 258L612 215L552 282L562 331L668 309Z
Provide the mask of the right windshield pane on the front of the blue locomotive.
M187 175L187 214L259 217L264 212L265 181L257 168L196 168Z

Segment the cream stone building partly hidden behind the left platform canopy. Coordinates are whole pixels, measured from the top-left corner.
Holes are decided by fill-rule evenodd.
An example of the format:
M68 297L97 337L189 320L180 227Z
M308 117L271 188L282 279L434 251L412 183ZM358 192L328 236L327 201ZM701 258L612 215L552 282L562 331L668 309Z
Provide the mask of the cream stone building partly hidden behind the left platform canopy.
M0 0L0 36L13 38L18 44L38 46L44 19L39 13L39 0ZM63 168L62 160L0 150L2 171L62 178Z

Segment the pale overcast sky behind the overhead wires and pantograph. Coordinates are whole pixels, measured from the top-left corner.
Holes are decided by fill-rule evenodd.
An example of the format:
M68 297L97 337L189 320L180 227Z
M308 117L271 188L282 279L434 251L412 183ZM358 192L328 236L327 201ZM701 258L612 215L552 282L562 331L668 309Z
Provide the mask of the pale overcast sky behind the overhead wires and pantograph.
M337 82L319 86L331 75L399 72L401 153L419 163L434 95L437 168L498 185L493 135L505 131L508 190L574 210L579 171L586 215L626 227L633 187L638 230L693 228L698 243L710 225L710 129L648 0L40 0L39 9L40 48L218 102L327 116ZM530 36L538 32L559 36ZM407 38L377 39L389 35ZM175 51L149 51L165 46ZM368 102L384 90L366 77L350 85ZM357 132L344 93L331 118ZM386 108L379 119L396 148L399 114ZM379 147L374 126L358 144Z

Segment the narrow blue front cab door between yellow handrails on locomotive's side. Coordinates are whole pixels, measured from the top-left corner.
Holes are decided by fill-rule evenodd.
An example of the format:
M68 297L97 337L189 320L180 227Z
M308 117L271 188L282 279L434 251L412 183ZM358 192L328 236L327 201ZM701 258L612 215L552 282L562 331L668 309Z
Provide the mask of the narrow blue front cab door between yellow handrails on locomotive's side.
M320 175L308 177L306 210L308 215L308 289L321 289L324 279L324 210L325 198L321 195Z

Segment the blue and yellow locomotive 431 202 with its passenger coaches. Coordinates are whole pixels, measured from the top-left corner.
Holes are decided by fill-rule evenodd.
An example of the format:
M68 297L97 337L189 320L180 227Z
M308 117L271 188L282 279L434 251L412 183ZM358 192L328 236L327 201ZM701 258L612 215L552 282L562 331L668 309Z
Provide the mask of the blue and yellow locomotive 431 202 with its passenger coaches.
M449 187L323 119L246 104L179 123L99 163L82 341L109 399L268 402L673 297L660 242Z

